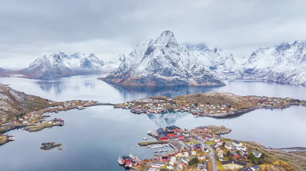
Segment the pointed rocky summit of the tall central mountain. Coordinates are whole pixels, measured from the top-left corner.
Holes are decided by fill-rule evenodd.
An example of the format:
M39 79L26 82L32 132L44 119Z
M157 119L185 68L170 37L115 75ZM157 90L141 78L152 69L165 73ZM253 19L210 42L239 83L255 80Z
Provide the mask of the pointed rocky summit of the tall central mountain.
M155 41L155 43L163 44L165 47L177 48L177 42L173 32L164 31Z

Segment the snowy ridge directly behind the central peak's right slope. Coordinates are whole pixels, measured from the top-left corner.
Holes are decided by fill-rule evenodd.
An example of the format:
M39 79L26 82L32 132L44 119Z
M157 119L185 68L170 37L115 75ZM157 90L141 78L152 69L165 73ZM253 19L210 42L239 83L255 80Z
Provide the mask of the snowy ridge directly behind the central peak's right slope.
M198 56L201 63L208 65L209 69L221 79L236 78L238 70L232 53L223 49L209 48L205 44L182 44Z

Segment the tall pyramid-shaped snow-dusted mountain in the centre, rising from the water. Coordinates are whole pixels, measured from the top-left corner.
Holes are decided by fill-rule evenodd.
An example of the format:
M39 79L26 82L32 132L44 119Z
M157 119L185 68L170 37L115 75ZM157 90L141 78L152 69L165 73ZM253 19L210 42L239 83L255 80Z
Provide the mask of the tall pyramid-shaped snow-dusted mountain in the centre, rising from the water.
M172 32L145 40L128 55L106 82L130 86L223 86L220 79L185 46L178 45Z

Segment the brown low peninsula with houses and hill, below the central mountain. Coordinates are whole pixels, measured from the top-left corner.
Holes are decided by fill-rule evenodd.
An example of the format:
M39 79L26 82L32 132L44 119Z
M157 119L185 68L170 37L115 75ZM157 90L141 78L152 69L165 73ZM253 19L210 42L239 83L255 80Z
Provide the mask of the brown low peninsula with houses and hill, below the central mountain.
M187 111L195 117L227 117L261 108L287 108L292 105L306 106L306 101L289 97L238 96L233 93L212 92L174 98L146 97L117 104L114 108L130 109L133 113L148 115L168 111Z

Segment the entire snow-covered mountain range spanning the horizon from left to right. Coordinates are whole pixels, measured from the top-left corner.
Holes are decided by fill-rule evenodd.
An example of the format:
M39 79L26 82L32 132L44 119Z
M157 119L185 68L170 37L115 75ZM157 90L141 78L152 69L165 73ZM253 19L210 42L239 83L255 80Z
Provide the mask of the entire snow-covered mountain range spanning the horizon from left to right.
M306 84L306 40L262 47L248 58L235 61L232 53L205 44L177 44L172 32L145 40L127 56L99 60L93 53L44 54L28 68L0 68L0 76L57 78L89 73L111 73L106 82L126 86L223 86L224 79L264 79Z

